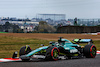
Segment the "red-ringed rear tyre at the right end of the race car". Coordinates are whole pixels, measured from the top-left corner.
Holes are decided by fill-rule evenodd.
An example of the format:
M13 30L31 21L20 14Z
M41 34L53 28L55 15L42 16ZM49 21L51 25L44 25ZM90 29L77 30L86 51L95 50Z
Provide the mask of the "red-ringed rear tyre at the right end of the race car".
M83 50L86 58L95 58L97 51L95 45L86 45Z

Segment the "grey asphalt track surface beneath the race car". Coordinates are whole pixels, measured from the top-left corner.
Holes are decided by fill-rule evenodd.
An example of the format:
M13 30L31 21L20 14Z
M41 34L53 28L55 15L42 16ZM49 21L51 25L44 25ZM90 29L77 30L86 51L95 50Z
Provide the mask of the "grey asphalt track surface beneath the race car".
M100 67L100 55L95 58L82 58L58 61L44 61L34 59L30 62L0 63L0 67Z

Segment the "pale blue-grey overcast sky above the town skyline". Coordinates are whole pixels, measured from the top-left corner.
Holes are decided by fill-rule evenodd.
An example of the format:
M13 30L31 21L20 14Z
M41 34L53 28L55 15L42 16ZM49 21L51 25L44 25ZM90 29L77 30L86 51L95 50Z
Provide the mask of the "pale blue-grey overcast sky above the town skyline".
M33 18L38 13L100 18L100 0L0 0L0 17Z

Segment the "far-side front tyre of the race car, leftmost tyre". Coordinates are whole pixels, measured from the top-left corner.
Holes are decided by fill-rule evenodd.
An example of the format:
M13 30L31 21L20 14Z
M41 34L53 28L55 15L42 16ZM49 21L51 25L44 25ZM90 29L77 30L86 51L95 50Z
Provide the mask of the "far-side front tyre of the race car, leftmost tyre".
M31 48L30 46L26 45L26 46L23 46L20 51L19 51L19 56L22 56L22 55L25 55L25 54L28 54L29 52L31 52ZM22 61L29 61L30 59L22 59Z

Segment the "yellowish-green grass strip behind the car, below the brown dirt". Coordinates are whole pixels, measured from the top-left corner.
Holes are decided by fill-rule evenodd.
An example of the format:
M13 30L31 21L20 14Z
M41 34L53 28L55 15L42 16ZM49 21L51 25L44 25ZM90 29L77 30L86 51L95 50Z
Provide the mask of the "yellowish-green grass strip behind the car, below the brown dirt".
M22 46L30 45L32 49L40 47L40 44L48 45L50 40L19 38L13 36L0 36L0 58L12 57L13 52L20 50ZM97 49L100 50L100 40L94 41ZM83 46L86 44L82 44Z

